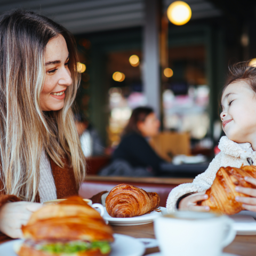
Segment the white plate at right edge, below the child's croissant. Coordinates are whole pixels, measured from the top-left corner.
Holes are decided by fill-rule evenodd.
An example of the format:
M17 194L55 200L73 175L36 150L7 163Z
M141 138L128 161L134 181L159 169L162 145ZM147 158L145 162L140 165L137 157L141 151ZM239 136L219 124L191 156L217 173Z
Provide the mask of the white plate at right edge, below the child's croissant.
M242 211L229 217L235 221L237 235L256 235L256 212Z

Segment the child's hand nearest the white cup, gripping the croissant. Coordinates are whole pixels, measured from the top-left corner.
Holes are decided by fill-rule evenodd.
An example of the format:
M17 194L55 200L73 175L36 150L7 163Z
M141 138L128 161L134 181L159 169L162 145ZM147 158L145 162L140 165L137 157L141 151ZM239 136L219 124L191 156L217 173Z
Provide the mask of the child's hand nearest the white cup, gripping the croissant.
M208 211L210 211L209 206L198 206L197 205L197 202L206 200L207 198L208 198L208 196L205 195L205 191L187 196L180 201L179 210L208 212Z

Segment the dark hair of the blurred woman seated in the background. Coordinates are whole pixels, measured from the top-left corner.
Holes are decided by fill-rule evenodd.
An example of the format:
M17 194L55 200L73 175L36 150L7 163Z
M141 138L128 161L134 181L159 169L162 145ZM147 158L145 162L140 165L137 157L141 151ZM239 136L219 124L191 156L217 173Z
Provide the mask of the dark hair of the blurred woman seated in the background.
M123 135L134 132L141 134L140 130L138 129L138 122L145 122L146 117L151 113L154 113L154 110L150 107L134 108L129 122L123 131Z

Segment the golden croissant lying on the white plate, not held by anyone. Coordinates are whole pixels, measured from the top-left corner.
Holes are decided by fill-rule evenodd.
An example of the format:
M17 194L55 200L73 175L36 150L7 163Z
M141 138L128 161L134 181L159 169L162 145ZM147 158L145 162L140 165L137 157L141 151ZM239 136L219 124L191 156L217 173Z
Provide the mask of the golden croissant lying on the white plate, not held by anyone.
M157 193L121 184L114 187L106 198L106 210L114 218L130 218L154 211L160 204Z

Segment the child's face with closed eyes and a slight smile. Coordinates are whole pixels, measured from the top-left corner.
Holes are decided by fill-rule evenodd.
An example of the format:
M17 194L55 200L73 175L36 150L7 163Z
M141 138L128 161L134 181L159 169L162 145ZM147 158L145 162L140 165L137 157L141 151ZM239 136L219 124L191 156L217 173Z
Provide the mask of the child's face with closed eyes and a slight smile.
M223 131L237 143L250 142L256 136L256 94L242 81L229 84L221 98Z

